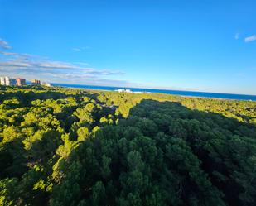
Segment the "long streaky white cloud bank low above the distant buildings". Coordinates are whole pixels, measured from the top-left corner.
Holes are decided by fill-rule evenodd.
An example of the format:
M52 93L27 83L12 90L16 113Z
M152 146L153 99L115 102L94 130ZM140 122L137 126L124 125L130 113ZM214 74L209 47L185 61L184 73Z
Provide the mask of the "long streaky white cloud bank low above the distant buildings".
M94 69L85 65L49 60L35 55L0 52L5 59L0 58L0 72L12 74L30 74L40 78L46 76L49 79L62 79L69 81L99 81L106 76L121 75L120 71L112 69ZM47 74L47 75L46 75ZM57 80L58 80L57 79ZM109 80L110 81L110 80Z

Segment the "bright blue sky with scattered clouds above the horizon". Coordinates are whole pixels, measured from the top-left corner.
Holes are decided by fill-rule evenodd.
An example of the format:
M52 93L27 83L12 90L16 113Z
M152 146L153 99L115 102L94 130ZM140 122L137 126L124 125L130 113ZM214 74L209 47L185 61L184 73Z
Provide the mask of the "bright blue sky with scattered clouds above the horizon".
M0 76L256 95L256 1L0 0Z

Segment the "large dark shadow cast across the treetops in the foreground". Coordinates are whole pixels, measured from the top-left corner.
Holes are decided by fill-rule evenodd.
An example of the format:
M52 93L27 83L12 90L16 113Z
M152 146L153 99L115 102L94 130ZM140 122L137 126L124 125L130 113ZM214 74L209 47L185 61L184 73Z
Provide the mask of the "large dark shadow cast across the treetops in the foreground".
M54 188L53 199L60 205L76 205L82 199L93 199L95 185L100 182L109 205L116 204L121 195L128 199L125 195L133 194L136 189L139 194L136 197L146 201L146 194L154 193L155 186L162 196L166 194L167 205L173 204L171 201L192 205L195 199L205 205L221 195L228 205L254 205L250 188L255 189L255 180L249 176L253 175L254 167L246 160L253 156L255 139L253 124L218 113L191 110L181 103L144 99L130 109L127 118L120 119L117 125L101 127L94 137L71 151L67 160L63 160L60 170L65 178ZM10 154L7 157L10 159ZM133 165L132 160L138 161L138 165ZM75 167L76 162L80 166ZM0 175L9 166L1 165ZM138 179L142 181L138 183L140 186L133 170L142 175ZM75 174L81 175L75 177ZM143 182L146 176L150 184ZM69 181L80 189L74 192L67 184ZM61 199L61 193L69 189L74 199ZM104 205L105 200L99 200L98 205Z

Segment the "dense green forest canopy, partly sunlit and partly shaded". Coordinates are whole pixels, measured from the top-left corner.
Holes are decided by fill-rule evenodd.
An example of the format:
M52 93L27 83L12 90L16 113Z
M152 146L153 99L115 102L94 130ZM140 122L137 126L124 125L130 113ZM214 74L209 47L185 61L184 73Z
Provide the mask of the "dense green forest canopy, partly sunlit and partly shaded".
M0 205L256 205L256 102L1 86Z

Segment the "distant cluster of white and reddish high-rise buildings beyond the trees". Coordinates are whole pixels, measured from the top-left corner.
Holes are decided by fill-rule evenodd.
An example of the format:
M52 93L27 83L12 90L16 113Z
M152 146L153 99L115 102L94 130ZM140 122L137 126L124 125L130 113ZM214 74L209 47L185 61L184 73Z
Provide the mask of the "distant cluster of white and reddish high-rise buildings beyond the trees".
M40 80L33 79L31 81L32 85L42 85L46 87L51 87L50 83L47 82L41 82ZM10 77L0 77L0 85L5 85L5 86L25 86L27 85L26 79L22 78L10 78Z

